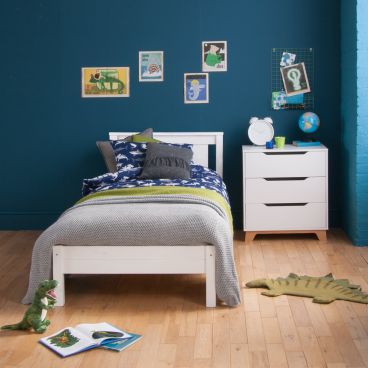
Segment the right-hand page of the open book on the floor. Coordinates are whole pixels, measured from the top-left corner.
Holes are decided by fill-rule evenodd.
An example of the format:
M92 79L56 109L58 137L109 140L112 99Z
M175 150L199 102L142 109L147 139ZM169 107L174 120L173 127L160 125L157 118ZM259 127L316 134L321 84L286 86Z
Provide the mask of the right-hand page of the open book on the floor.
M109 323L82 323L75 326L80 332L88 336L96 344L101 344L104 340L117 340L130 337L127 332L116 328Z

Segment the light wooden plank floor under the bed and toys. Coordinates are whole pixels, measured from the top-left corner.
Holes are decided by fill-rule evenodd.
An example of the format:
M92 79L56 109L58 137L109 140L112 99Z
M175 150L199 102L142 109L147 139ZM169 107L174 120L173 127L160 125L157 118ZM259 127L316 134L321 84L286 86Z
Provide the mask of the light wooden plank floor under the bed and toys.
M38 234L0 232L0 325L18 322L26 309L20 299ZM121 353L95 349L62 360L37 343L38 334L2 331L0 367L368 367L368 305L319 305L244 288L254 278L332 272L368 291L368 248L353 247L339 231L327 243L279 235L245 245L237 237L238 308L206 309L202 276L71 277L48 334L107 321L142 340Z

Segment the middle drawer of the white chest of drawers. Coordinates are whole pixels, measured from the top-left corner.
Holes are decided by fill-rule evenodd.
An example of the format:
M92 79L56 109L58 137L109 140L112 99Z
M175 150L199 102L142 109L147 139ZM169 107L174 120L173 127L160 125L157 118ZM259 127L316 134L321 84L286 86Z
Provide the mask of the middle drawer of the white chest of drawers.
M245 179L245 203L327 202L326 178Z

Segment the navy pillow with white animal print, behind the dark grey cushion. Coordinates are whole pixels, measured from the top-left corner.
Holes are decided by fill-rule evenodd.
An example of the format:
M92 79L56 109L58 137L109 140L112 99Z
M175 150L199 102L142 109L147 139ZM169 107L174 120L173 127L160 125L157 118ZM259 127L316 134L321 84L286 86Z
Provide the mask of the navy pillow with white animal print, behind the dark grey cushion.
M169 146L183 147L192 149L191 144L176 143L157 143ZM124 141L111 141L112 148L115 153L116 166L118 171L124 173L130 178L141 174L144 159L146 158L147 143L133 143Z

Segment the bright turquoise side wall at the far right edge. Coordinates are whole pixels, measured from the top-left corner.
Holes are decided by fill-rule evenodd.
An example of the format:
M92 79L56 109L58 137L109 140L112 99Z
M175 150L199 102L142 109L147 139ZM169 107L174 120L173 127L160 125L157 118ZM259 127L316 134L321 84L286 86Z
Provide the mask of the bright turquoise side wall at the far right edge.
M342 225L368 245L368 3L341 2Z

